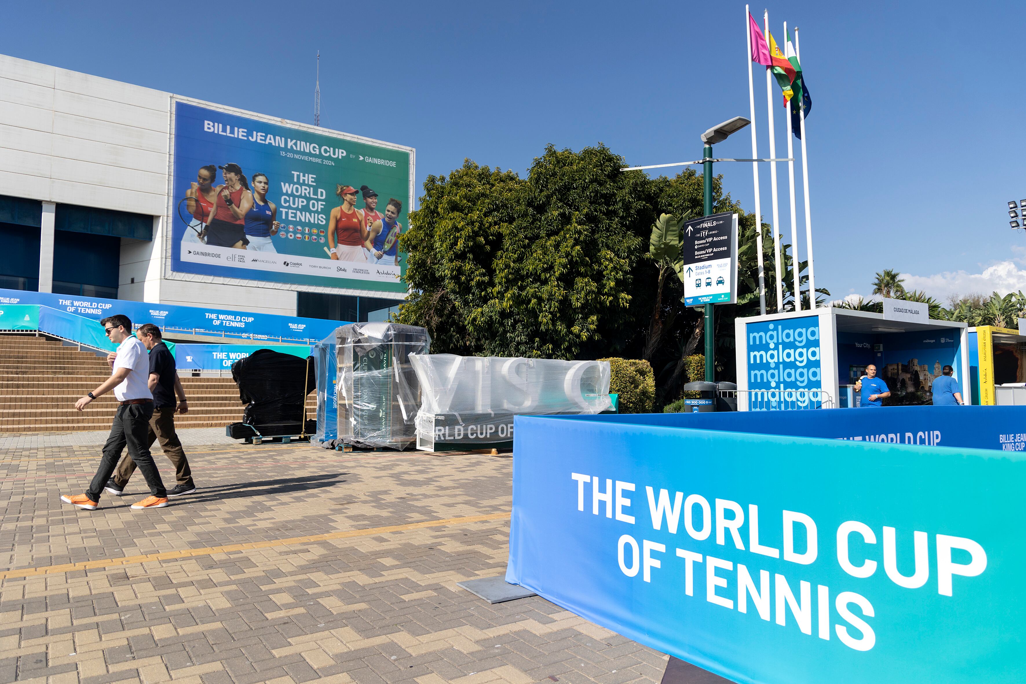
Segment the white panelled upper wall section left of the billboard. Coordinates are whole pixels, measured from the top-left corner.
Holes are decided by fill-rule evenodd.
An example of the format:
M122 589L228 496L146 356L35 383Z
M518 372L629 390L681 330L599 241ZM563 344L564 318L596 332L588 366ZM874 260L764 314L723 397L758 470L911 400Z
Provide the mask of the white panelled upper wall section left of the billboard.
M0 55L0 187L163 214L169 106L167 92Z

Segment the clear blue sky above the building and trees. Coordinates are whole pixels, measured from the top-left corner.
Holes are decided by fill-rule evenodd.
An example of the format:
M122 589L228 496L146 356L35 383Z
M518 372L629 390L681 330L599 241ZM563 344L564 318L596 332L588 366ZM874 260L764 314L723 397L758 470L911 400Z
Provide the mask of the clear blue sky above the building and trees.
M1021 7L768 9L778 38L784 21L801 29L814 98L817 285L868 294L874 272L894 268L937 295L1026 287L1026 235L1004 208L1026 198ZM735 2L8 2L4 14L4 53L308 122L320 49L322 125L417 148L419 189L465 157L523 173L547 143L602 142L633 164L696 159L703 130L748 116ZM750 145L742 132L716 156ZM778 156L785 146L778 117ZM751 165L717 171L751 210ZM786 164L779 174L788 235ZM768 220L767 165L760 175Z

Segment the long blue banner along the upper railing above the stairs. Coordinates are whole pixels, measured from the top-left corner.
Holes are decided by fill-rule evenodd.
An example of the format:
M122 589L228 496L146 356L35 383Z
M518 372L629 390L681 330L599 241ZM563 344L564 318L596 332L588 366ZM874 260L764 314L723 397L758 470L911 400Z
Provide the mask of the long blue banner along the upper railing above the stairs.
M18 304L43 305L96 321L114 314L124 314L131 319L133 326L153 323L161 330L172 332L308 344L319 341L337 327L346 325L345 321L320 318L0 289L0 307Z

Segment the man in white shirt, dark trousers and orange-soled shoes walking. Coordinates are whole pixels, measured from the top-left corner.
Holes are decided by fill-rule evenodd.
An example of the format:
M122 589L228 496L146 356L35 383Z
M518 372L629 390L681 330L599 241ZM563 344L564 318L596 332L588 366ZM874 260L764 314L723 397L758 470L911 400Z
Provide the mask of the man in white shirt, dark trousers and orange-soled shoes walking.
M131 321L127 316L117 314L100 322L107 330L110 340L118 345L118 351L107 357L111 364L111 376L75 402L75 408L83 410L96 397L111 390L114 390L114 396L120 405L114 414L111 436L104 445L104 455L89 489L84 494L62 496L61 500L86 511L95 511L100 506L100 495L104 491L104 486L110 480L118 459L121 458L121 452L127 445L128 454L139 466L139 470L143 471L143 477L150 485L152 494L133 504L132 508L160 509L167 506L167 491L150 454L150 418L153 416L153 394L148 385L150 359L146 347L131 333Z

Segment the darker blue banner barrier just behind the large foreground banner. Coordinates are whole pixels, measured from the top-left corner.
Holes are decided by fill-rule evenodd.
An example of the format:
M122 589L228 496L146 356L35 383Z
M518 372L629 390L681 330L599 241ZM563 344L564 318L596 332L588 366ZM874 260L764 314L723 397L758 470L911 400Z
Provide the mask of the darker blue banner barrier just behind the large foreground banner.
M794 411L582 415L581 419L920 446L1026 451L1026 407L891 406Z

